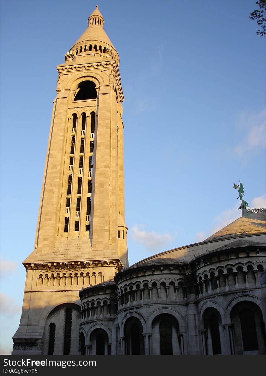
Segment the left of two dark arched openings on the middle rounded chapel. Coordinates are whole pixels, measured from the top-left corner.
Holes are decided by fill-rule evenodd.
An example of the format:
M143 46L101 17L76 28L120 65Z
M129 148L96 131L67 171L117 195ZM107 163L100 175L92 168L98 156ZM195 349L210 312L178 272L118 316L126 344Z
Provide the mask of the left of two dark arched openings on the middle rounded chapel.
M144 355L144 337L141 321L136 317L127 319L124 325L126 355Z

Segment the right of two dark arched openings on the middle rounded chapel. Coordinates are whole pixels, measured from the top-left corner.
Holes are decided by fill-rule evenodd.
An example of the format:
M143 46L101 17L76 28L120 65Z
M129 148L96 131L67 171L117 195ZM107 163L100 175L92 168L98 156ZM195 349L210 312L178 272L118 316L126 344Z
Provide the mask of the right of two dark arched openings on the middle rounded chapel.
M179 324L170 314L160 314L151 324L151 354L152 355L180 355L181 343Z

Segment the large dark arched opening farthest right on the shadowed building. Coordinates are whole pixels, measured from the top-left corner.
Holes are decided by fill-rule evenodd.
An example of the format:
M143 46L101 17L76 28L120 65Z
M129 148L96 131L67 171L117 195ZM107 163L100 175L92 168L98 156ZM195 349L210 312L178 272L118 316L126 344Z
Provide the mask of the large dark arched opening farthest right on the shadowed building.
M239 302L231 310L236 355L265 354L266 335L260 307Z

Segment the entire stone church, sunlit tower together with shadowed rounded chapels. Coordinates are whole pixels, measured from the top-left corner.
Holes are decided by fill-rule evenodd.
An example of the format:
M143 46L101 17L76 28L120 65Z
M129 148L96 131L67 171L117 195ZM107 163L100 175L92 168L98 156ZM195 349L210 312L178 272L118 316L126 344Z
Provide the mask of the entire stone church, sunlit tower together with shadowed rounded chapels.
M128 267L124 96L103 23L96 7L57 66L13 354L264 354L266 209Z

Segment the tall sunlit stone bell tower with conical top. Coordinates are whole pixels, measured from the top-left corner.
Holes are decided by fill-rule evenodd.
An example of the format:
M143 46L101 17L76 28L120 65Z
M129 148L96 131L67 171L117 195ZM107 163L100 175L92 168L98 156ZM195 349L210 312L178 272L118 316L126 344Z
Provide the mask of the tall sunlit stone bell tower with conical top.
M119 55L96 6L58 65L33 252L13 354L79 353L79 290L128 267Z

